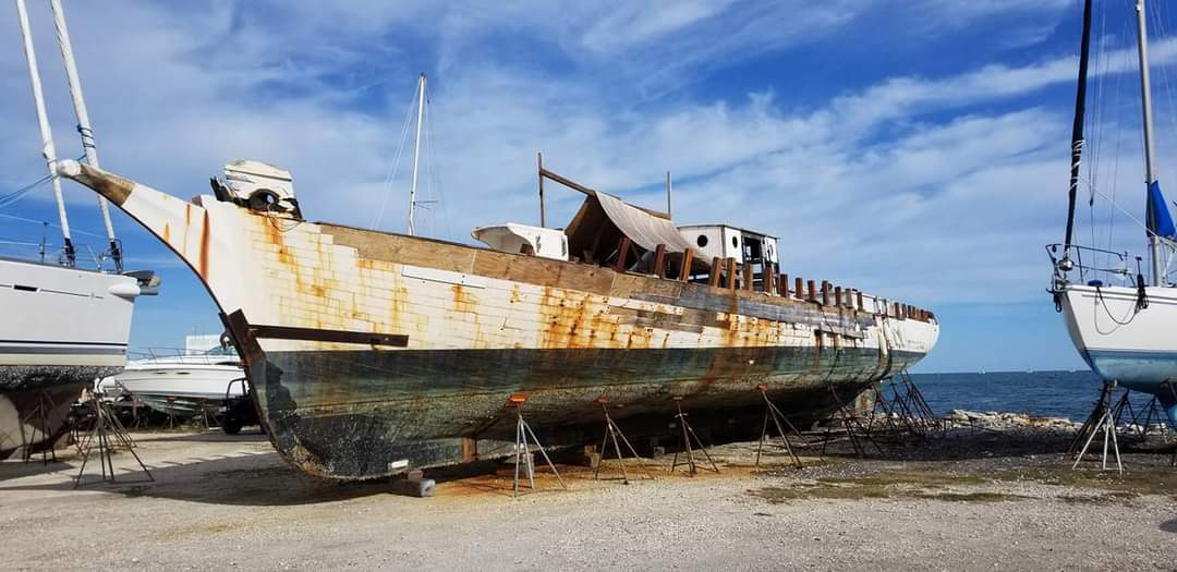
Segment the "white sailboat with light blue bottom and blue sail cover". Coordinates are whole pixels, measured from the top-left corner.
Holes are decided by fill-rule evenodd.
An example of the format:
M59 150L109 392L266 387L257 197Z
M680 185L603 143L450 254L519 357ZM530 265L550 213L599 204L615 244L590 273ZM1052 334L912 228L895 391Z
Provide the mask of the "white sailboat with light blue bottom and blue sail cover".
M1048 247L1055 267L1051 292L1056 307L1065 318L1071 341L1088 365L1106 383L1157 395L1170 420L1177 423L1177 285L1168 272L1169 260L1165 260L1173 258L1177 230L1156 174L1144 0L1136 2L1136 24L1150 271L1145 278L1139 268L1139 258L1133 273L1126 254L1072 242L1079 158L1085 142L1083 119L1091 38L1091 0L1086 0L1071 147L1066 240L1063 245ZM1099 259L1112 262L1099 264Z

